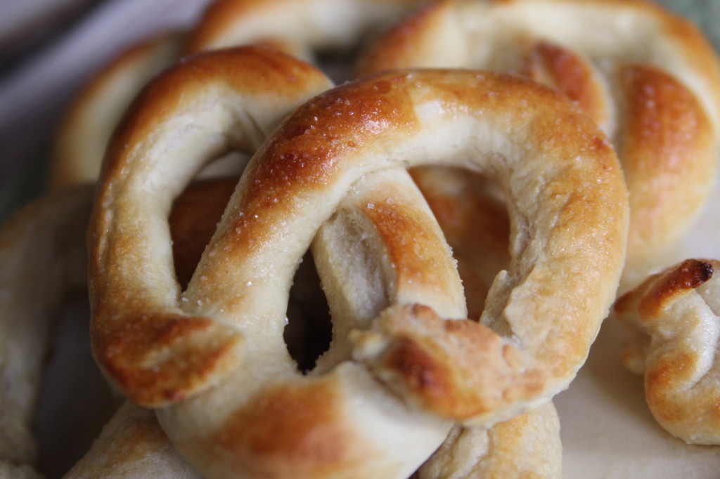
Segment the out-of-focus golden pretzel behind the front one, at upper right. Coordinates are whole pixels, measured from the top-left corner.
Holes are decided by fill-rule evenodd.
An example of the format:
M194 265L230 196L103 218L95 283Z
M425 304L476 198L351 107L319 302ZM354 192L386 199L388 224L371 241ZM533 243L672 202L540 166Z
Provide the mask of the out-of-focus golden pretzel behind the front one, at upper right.
M667 262L708 196L718 65L695 27L646 1L437 0L383 37L360 72L524 73L587 108L613 139L630 191L626 290Z

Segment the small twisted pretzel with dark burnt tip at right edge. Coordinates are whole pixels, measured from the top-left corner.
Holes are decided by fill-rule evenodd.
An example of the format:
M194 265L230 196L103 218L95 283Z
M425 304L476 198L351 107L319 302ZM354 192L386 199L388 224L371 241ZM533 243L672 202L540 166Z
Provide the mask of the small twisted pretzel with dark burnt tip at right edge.
M634 332L623 362L644 375L650 411L690 444L720 444L720 325L716 260L685 260L614 306Z

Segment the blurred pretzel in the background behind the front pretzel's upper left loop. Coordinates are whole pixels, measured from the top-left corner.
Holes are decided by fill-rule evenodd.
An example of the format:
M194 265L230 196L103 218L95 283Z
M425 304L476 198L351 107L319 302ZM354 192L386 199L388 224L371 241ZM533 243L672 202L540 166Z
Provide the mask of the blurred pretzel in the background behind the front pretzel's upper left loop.
M308 60L316 50L348 49L418 0L216 0L189 32L130 46L73 99L53 145L50 186L96 181L112 131L140 89L179 58L263 43ZM207 175L238 173L229 163Z

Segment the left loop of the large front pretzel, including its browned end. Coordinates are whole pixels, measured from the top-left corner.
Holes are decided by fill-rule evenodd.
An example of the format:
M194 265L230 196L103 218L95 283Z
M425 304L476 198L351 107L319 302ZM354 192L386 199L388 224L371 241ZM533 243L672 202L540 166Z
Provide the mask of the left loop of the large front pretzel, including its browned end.
M90 275L104 278L90 284L102 317L91 339L101 368L134 401L177 400L239 360L235 329L179 307L172 199L204 163L230 147L252 152L293 106L329 85L280 53L223 50L171 69L120 125L91 220Z

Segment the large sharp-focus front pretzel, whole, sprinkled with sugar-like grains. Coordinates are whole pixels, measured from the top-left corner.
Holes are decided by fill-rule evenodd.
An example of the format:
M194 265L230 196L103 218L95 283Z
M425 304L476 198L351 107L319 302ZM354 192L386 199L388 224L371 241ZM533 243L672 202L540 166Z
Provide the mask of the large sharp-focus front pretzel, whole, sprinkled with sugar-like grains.
M90 232L104 370L135 401L163 406L174 445L212 477L400 477L442 442L449 419L494 424L565 388L615 293L626 190L590 119L517 78L401 71L315 96L248 164L181 294L166 259L170 198L207 158L256 145L280 110L327 86L307 65L260 51L207 57L225 55L222 68L179 66L179 76L232 76L249 62L255 73L153 103L178 84L170 75L114 137ZM511 268L482 324L462 319L449 250L438 253L444 239L397 170L428 163L480 170L508 197ZM314 238L334 337L301 375L282 330Z

